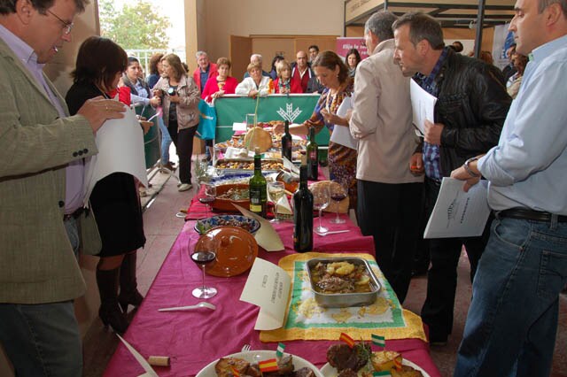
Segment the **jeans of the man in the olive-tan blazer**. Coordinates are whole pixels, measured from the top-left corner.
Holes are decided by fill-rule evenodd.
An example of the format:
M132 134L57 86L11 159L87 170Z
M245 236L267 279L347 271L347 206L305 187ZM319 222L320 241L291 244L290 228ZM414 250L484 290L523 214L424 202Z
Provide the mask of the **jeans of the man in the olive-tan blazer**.
M18 376L81 376L73 301L0 304L0 342Z

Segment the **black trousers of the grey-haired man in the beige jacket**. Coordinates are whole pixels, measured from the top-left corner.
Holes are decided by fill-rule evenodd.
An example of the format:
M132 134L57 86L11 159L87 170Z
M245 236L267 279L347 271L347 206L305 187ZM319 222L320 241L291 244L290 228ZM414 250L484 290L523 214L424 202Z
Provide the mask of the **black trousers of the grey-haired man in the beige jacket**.
M403 303L416 251L423 184L358 180L357 188L357 219L362 234L374 236L380 270Z

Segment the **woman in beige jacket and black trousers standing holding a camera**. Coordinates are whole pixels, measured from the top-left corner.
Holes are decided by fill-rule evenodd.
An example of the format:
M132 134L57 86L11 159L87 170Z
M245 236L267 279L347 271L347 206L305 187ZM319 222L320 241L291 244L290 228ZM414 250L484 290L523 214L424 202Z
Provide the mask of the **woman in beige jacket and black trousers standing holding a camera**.
M163 76L153 87L161 97L163 120L179 156L178 190L187 191L191 186L191 155L193 136L198 126L198 103L201 99L197 84L187 75L181 59L167 54L161 59Z

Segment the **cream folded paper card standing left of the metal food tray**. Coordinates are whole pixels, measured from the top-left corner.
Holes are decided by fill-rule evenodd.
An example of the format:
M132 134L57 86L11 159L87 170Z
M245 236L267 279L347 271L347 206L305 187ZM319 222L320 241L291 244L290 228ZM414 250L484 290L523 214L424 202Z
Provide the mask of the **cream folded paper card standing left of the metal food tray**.
M261 258L254 260L240 301L260 306L255 330L283 326L290 289L291 277L285 270Z

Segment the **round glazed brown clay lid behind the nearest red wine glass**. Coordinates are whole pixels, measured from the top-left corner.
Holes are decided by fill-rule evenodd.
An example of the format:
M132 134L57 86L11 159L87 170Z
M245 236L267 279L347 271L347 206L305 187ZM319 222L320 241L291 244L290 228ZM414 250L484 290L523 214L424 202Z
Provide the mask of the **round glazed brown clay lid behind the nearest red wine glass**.
M215 227L198 239L195 250L215 250L216 258L205 272L223 278L245 273L258 257L256 239L241 227Z

